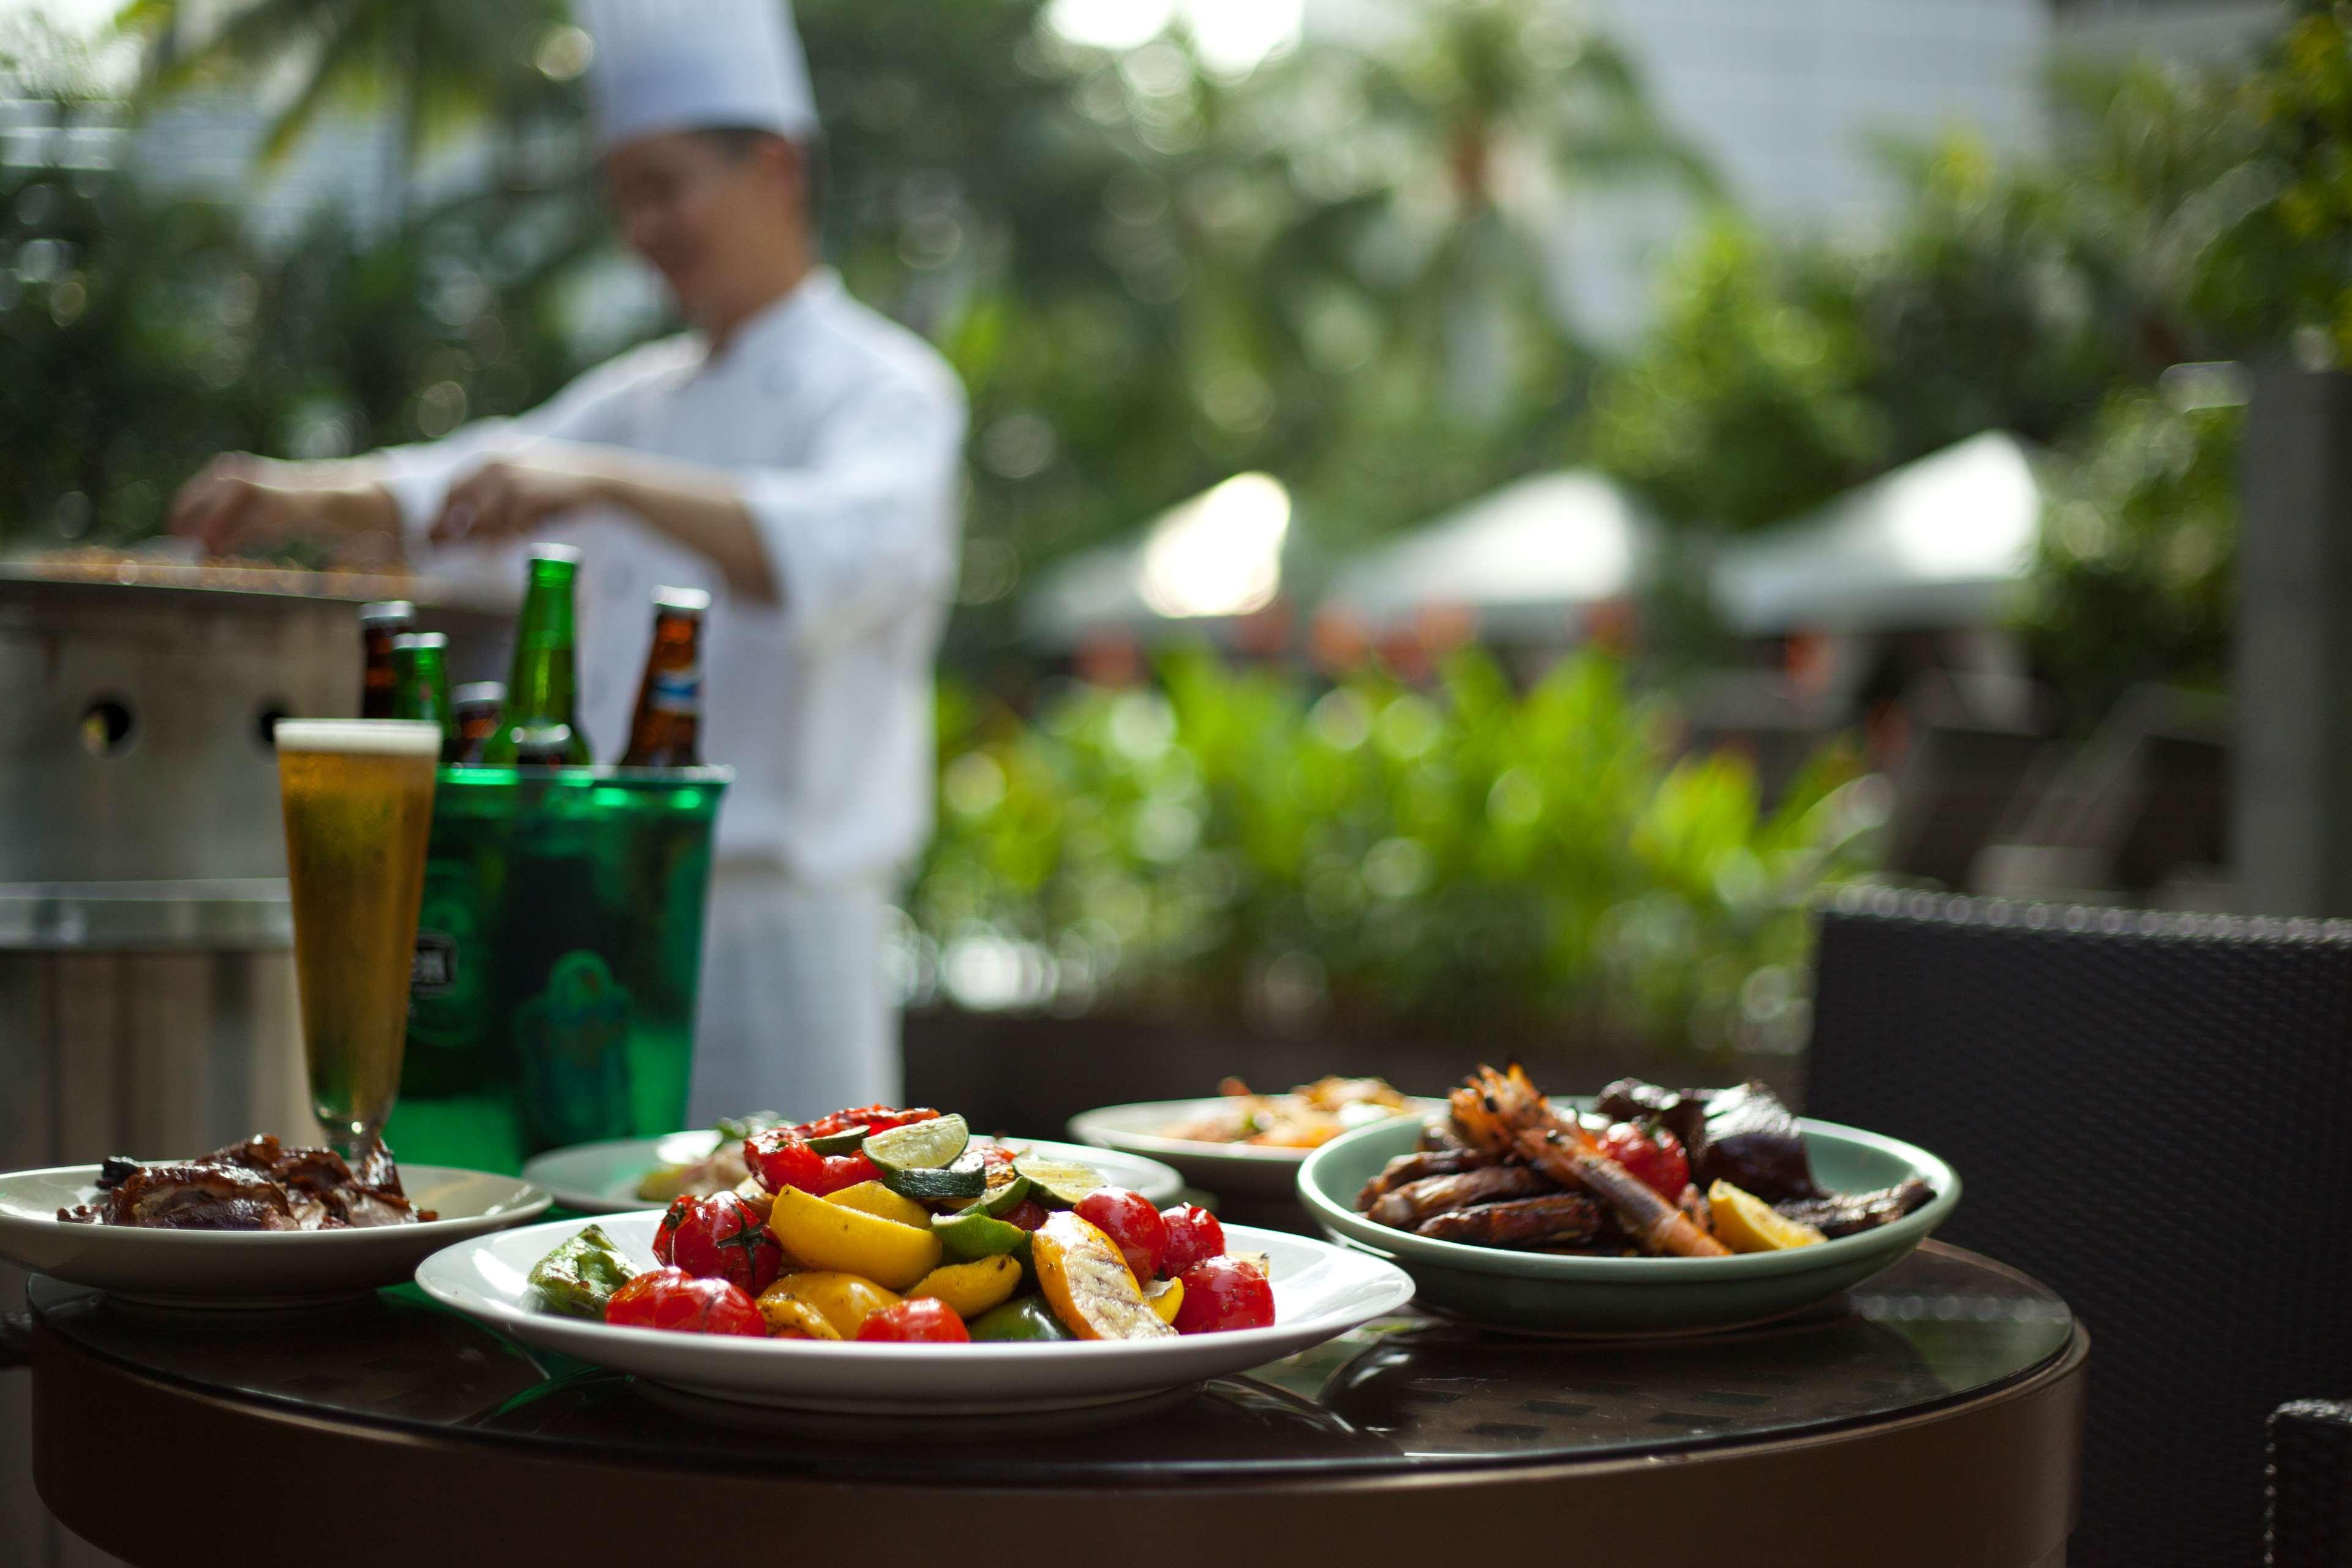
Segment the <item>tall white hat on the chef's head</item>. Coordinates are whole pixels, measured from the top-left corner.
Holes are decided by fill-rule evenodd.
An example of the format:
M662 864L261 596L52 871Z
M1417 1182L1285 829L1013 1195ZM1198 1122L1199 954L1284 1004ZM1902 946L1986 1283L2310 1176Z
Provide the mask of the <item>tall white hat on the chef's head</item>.
M600 150L670 132L816 134L790 0L576 0Z

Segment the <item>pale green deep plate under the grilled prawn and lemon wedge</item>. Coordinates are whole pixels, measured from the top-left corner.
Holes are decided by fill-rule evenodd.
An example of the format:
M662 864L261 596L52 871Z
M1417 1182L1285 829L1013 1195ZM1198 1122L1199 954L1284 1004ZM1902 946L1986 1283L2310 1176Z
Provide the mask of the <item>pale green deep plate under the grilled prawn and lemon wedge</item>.
M1870 1192L1917 1175L1933 1201L1893 1225L1788 1253L1740 1258L1559 1258L1437 1241L1374 1225L1355 1194L1421 1135L1411 1119L1364 1126L1315 1150L1298 1168L1298 1201L1345 1246L1414 1276L1414 1300L1515 1333L1703 1333L1802 1312L1891 1267L1959 1206L1959 1173L1926 1150L1835 1121L1797 1124L1813 1180Z

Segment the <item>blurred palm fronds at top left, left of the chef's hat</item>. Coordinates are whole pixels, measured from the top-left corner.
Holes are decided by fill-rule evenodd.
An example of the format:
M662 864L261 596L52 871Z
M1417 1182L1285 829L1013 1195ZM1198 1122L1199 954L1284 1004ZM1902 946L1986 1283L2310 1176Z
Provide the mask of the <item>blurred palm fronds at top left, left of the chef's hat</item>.
M195 82L292 71L263 160L282 158L332 106L388 106L395 212L407 212L409 169L433 134L482 118L510 125L569 80L562 52L541 63L564 26L560 0L242 0L228 12L216 0L129 0L118 26L153 40L141 106Z

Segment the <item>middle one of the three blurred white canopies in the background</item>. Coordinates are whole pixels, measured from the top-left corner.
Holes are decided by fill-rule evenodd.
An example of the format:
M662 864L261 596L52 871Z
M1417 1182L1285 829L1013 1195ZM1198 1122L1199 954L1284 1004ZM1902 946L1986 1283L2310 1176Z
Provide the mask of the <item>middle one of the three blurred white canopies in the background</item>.
M1371 628L1470 609L1484 630L1557 637L1566 616L1623 599L1651 522L1613 480L1566 470L1479 496L1338 571L1327 604Z

